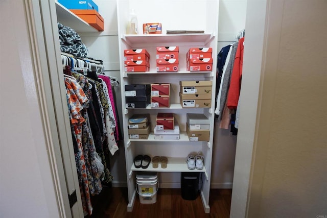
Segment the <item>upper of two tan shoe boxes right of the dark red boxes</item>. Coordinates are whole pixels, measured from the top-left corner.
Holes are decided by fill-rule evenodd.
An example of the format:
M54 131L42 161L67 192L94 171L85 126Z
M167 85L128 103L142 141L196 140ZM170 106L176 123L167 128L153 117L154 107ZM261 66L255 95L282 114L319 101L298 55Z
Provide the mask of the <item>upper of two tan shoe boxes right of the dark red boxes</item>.
M182 94L211 94L212 81L179 81Z

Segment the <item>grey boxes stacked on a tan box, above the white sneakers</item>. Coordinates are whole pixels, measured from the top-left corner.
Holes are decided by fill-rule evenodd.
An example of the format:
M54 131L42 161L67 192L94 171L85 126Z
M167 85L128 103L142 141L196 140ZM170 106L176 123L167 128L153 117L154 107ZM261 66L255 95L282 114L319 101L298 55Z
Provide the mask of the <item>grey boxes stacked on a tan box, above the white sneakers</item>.
M186 132L190 141L209 141L209 119L204 114L186 114Z

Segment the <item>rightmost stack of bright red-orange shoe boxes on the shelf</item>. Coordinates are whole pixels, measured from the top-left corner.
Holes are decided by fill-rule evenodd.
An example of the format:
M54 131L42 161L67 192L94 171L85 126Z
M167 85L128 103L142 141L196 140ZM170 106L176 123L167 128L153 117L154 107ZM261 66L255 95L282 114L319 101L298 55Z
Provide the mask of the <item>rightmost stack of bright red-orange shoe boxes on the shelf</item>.
M186 54L186 70L211 71L213 68L212 53L211 47L191 47Z

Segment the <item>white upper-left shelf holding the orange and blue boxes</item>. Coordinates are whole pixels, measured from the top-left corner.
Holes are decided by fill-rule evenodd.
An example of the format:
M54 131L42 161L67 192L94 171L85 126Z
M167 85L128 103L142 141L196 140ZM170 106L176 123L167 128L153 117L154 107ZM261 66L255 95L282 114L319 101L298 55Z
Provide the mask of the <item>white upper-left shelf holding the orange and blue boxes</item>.
M83 32L99 32L90 26L87 22L66 9L63 5L56 1L57 21L66 27L70 27L77 33Z

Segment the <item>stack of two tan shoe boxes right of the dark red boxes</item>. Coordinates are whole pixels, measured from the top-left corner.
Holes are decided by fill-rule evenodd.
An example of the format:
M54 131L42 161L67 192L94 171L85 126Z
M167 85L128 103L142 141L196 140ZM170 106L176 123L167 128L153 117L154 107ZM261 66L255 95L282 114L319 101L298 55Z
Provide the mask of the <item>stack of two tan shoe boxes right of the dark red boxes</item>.
M179 81L179 100L183 108L210 108L212 81Z

